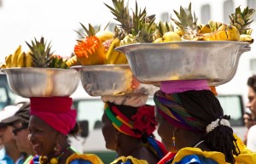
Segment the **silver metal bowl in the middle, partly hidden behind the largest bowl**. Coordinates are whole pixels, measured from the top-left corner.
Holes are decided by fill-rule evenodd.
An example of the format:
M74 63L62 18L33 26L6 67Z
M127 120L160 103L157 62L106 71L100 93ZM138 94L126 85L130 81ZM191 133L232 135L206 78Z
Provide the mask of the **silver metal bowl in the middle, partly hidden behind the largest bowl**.
M79 71L84 90L90 96L150 94L156 90L153 85L138 82L129 65L79 65L71 68Z

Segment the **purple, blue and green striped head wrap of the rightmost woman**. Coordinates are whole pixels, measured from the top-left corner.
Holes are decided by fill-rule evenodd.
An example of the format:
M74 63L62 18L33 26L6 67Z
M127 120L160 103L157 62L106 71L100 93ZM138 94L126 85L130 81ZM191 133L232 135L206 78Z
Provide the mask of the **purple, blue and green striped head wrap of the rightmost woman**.
M193 132L206 132L206 126L198 122L194 116L191 116L183 108L178 93L167 94L159 90L154 93L154 103L160 115L174 127L180 127Z

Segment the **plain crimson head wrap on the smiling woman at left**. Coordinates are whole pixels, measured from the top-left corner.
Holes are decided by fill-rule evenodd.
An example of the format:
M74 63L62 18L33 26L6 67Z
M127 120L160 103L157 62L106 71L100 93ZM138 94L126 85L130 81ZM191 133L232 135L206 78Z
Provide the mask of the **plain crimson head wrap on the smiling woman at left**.
M32 97L31 116L38 116L56 131L67 135L76 123L77 110L72 110L73 100L68 97Z

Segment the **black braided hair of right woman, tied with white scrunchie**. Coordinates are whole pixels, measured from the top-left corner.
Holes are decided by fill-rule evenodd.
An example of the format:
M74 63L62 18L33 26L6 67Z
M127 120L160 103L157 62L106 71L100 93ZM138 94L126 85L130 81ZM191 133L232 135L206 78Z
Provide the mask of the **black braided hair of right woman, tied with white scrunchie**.
M218 99L209 90L187 91L178 93L178 96L189 114L195 116L197 121L206 127L217 119L228 119L227 116L224 116ZM205 144L212 150L224 153L226 161L231 164L236 162L233 155L238 156L240 150L231 127L219 125L211 132L206 133L204 140Z

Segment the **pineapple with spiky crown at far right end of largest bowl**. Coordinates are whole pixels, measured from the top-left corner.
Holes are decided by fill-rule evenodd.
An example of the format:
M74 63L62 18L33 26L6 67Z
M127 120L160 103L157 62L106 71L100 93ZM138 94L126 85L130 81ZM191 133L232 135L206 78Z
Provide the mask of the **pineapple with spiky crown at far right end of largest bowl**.
M236 8L235 14L229 15L230 25L236 26L240 34L247 34L247 30L250 29L249 26L253 22L253 20L251 20L253 18L253 14L255 14L255 9L247 7L241 11L239 6Z

